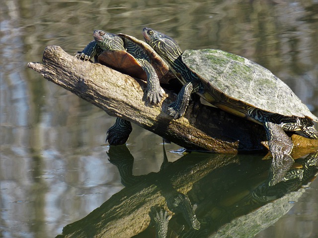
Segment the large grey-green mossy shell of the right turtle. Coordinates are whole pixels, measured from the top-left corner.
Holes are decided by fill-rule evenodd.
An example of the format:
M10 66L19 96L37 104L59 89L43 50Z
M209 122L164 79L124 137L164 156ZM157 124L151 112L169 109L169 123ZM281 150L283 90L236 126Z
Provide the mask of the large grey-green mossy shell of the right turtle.
M253 61L213 49L186 50L182 60L207 91L218 90L228 97L229 104L243 103L274 114L318 121L287 84Z

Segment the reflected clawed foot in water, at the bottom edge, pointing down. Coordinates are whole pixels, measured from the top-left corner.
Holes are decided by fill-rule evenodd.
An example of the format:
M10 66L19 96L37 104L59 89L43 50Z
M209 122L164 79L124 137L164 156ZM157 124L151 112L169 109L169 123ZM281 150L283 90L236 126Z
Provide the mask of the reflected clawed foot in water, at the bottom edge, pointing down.
M168 233L168 223L170 219L168 211L162 207L151 207L149 215L151 221L156 226L156 238L165 238Z

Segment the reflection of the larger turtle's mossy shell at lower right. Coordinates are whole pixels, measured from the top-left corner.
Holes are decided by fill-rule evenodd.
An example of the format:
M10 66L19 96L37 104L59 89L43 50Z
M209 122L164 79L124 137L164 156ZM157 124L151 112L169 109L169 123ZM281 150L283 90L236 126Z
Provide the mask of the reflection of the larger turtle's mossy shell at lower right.
M253 237L261 230L273 225L305 192L302 186L316 178L317 161L318 153L312 153L305 159L301 159L302 168L287 172L285 181L274 186L268 186L267 183L260 184L248 196L235 203L232 209L237 210L240 206L250 209L255 204L261 207L255 211L249 210L250 213L235 218L212 237L231 237L233 234L238 237Z

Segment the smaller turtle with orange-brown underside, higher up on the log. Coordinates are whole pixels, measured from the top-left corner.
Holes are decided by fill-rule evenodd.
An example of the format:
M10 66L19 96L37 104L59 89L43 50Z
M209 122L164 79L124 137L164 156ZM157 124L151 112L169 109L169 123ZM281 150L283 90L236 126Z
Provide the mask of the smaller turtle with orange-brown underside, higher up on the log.
M147 81L147 104L159 104L163 95L159 80L169 84L175 78L159 55L145 42L122 33L94 30L93 37L94 40L77 52L75 57L84 61L94 58L117 71ZM131 131L130 121L117 118L107 131L106 141L110 145L124 144Z

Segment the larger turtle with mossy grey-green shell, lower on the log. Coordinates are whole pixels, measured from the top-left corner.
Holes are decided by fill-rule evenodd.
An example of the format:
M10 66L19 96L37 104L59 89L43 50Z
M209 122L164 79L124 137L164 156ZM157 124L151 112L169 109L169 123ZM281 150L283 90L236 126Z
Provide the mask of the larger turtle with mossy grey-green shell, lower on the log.
M218 49L181 51L177 42L145 27L145 41L180 73L184 84L167 113L178 119L188 106L191 93L236 116L262 124L274 162L289 156L293 142L285 131L301 131L318 139L313 121L318 118L291 88L265 67Z

